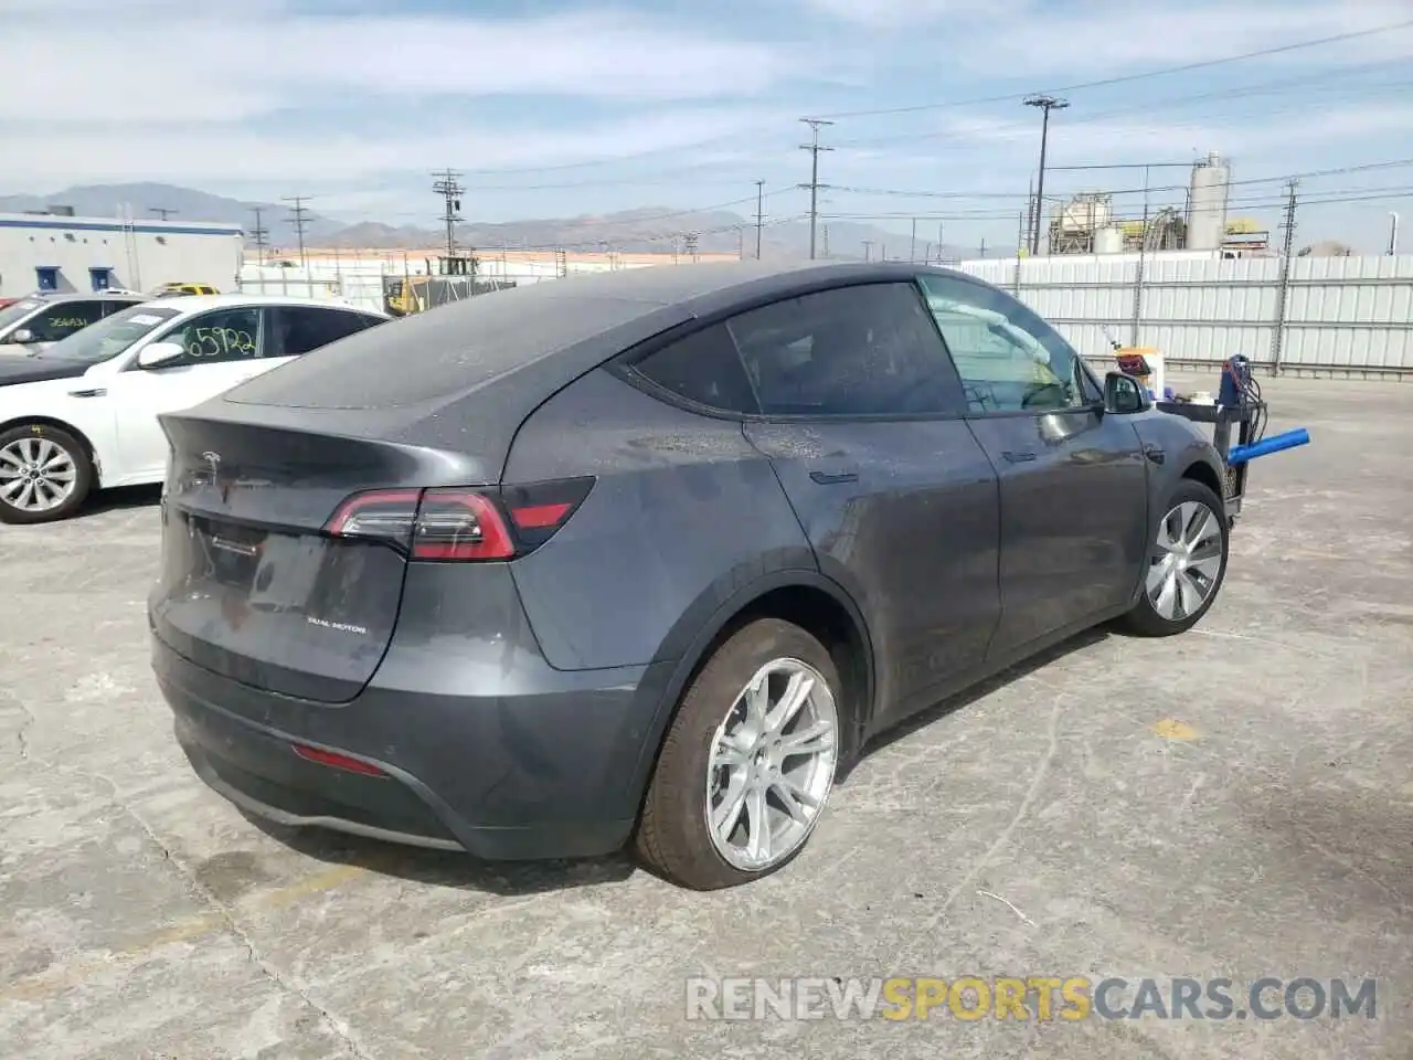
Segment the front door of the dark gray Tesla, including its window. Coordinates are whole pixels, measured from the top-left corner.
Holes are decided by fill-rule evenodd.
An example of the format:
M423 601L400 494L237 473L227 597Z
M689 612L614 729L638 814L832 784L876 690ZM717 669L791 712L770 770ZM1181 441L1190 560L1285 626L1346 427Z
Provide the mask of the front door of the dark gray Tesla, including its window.
M1147 544L1147 466L1132 423L1106 416L1078 353L993 287L926 276L1000 481L1000 625L992 657L1122 606Z

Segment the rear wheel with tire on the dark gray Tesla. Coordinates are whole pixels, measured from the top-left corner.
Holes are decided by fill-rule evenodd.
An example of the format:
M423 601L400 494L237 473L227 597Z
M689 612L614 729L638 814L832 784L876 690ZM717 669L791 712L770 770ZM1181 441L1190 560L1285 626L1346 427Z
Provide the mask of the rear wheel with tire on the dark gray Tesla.
M762 673L767 673L763 687L771 695L771 707L773 697L788 687L794 676L801 678L801 688L804 680L812 683L808 700L781 728L786 743L780 743L779 734L766 734L763 743L753 741L750 726L762 718L747 709L746 693ZM636 835L639 858L663 878L691 890L749 883L788 865L812 835L834 787L845 722L838 702L838 671L829 652L815 637L773 618L756 619L738 629L721 643L682 694L643 803ZM805 729L827 732L807 745L818 753L784 755L788 742L801 742ZM714 746L728 741L735 748L732 758L736 762L709 767ZM762 750L784 769L784 776L760 765ZM725 790L718 787L714 796L714 784ZM743 842L738 848L716 838L708 813L714 800L735 804L731 796L736 790L750 791L752 784L757 791L764 789L766 794L742 796L736 830ZM786 791L791 789L805 791L807 800L788 797ZM786 821L781 814L787 806L808 820ZM759 818L752 814L756 808L763 810ZM779 825L776 849L767 859L753 856L746 842L753 820Z

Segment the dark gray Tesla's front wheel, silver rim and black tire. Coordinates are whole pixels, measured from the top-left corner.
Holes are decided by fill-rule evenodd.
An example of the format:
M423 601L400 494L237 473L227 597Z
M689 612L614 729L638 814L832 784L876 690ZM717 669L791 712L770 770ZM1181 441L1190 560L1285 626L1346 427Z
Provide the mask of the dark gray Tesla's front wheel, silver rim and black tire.
M1184 479L1150 540L1143 592L1123 625L1140 636L1184 633L1212 606L1226 577L1228 520L1221 499Z

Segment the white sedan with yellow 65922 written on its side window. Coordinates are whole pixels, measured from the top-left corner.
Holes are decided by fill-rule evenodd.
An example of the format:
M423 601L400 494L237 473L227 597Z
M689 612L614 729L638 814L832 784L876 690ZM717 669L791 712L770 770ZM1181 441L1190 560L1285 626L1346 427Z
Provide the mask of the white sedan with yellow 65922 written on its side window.
M0 360L0 523L65 519L93 489L161 482L158 414L387 319L308 298L164 298Z

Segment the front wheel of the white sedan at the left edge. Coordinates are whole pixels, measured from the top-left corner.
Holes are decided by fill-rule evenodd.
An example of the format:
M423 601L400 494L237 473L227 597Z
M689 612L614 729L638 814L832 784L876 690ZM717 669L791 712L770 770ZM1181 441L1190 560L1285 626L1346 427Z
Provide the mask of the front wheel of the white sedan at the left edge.
M52 523L93 488L93 462L68 431L21 424L0 434L0 523Z

